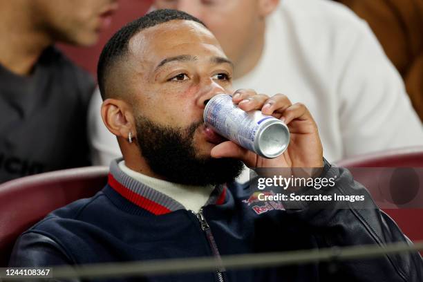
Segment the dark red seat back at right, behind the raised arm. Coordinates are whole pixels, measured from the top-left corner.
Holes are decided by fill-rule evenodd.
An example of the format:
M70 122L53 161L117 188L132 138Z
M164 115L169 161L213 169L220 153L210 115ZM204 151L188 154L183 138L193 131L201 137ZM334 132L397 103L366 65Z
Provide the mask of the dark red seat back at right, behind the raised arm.
M356 167L420 167L423 168L423 147L409 147L404 149L396 149L391 151L382 151L364 156L357 156L337 162L337 165L351 169L353 175L358 170ZM418 170L421 174L423 169ZM361 176L355 176L360 178ZM368 178L372 178L372 174L367 174ZM420 179L422 177L420 176ZM359 182L361 180L357 179ZM371 181L371 180L370 180ZM364 179L363 182L366 182ZM420 194L423 183L419 183ZM423 205L418 208L404 209L384 209L384 212L391 216L393 220L400 226L402 232L411 239L411 241L423 240ZM423 253L423 252L422 252Z

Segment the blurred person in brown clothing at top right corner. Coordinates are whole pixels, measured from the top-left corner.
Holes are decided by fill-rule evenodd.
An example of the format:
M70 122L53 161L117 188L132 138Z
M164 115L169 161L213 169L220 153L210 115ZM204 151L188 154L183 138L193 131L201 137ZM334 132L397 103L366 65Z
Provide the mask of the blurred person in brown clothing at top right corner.
M423 120L423 1L337 0L365 19L401 73Z

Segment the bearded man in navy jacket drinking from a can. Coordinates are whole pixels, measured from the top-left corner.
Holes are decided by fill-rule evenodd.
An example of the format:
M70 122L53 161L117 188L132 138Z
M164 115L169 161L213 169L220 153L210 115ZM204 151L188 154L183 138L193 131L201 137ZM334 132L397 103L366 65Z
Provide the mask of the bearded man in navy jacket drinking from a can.
M93 198L57 209L23 233L10 264L80 265L407 241L346 169L323 159L306 106L282 94L232 92L232 75L233 64L212 32L185 12L156 10L118 31L100 56L98 79L102 118L117 136L123 159L111 163L109 183ZM290 145L283 155L262 158L205 126L205 105L219 93L232 93L232 102L244 111L260 110L288 124ZM359 194L370 208L331 202L322 209L307 203L292 209L294 203L284 202L254 212L248 185L234 181L243 164L320 168L319 177L336 179L328 194ZM316 262L142 281L419 281L421 270L414 252L340 262L338 272Z

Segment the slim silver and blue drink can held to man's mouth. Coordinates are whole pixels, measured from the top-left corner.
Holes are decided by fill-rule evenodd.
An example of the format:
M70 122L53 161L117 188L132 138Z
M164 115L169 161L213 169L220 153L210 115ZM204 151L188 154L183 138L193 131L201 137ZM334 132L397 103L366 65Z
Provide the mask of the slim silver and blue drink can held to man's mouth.
M261 111L245 112L227 94L218 94L207 102L204 121L223 137L264 158L281 156L290 142L285 123Z

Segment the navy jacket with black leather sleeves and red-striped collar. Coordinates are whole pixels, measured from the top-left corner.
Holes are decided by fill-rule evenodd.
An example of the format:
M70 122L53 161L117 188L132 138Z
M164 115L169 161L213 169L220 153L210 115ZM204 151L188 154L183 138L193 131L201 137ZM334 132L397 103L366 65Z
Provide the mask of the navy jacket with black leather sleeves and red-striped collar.
M337 176L328 193L364 195L373 208L340 209L333 201L332 208L311 209L306 204L290 209L290 203L256 201L248 185L232 183L216 187L201 220L172 198L130 178L113 162L102 191L57 209L23 233L10 265L79 265L407 241L348 170L326 162L323 176ZM101 281L417 282L423 281L422 273L422 258L415 252L340 262L335 271L326 263L310 263Z

